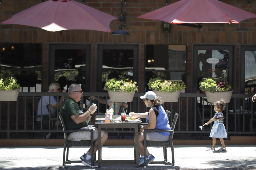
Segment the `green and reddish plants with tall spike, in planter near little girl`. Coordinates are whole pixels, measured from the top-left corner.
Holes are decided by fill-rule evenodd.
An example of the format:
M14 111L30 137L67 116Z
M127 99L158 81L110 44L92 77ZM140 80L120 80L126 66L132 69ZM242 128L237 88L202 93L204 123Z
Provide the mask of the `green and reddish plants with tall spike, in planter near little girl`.
M207 78L199 82L199 88L202 91L209 91L214 93L216 91L231 91L231 86L228 84L228 74L226 70L222 71L221 80L217 83L217 80L213 78Z

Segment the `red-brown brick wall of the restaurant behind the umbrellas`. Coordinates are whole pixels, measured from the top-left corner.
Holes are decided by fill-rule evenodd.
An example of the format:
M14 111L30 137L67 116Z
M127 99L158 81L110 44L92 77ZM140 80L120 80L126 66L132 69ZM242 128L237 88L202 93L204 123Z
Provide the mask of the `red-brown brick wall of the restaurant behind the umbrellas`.
M76 0L83 2L82 0ZM41 0L2 0L0 5L0 21L6 20L22 10L41 3ZM177 0L168 0L168 4ZM245 0L223 0L222 2L256 13L256 1ZM106 12L119 18L121 14L121 0L86 0L85 5ZM129 36L111 36L111 33L68 30L59 32L48 32L35 27L23 25L0 25L0 42L14 43L43 43L43 75L42 88L47 90L47 43L49 42L92 42L93 43L93 65L95 64L95 42L118 42L118 43L141 43L141 89L144 87L144 47L145 44L183 44L188 46L187 51L187 80L188 92L191 88L191 44L192 43L236 43L236 62L239 70L239 44L256 44L256 18L245 20L239 24L207 23L198 33L196 28L173 25L170 33L161 31L161 22L147 19L136 19L137 16L165 6L165 0L127 0L126 5L126 27L123 28L130 33ZM118 29L121 24L119 20L110 23L112 31ZM93 75L95 73L93 67ZM94 76L93 76L94 82ZM238 82L238 77L237 81ZM94 83L92 83L94 86ZM238 84L237 84L238 87ZM93 87L94 89L94 87ZM237 88L238 89L238 88Z

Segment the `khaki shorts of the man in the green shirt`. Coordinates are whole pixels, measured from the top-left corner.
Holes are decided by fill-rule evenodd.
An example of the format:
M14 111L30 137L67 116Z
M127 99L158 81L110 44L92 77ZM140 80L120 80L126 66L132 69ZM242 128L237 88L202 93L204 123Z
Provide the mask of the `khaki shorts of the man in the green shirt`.
M98 139L98 129L92 126L86 126L81 129L93 129L93 140L95 141ZM101 137L104 134L104 130L101 131ZM68 137L67 140L69 141L82 141L82 140L91 140L91 132L88 131L79 131L79 132L72 132Z

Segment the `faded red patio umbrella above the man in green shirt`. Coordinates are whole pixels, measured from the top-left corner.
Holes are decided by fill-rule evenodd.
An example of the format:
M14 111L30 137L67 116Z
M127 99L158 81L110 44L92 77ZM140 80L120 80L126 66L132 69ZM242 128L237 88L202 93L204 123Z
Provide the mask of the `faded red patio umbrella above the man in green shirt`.
M118 19L73 0L48 0L13 15L1 24L20 24L47 31L88 29L111 32L109 24Z

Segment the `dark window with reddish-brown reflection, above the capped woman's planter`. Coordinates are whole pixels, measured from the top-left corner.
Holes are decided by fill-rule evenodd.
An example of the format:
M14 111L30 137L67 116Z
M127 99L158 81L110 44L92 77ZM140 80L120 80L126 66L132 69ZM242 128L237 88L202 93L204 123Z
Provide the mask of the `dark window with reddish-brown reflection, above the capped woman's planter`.
M145 87L150 78L161 77L186 83L186 45L145 46Z

